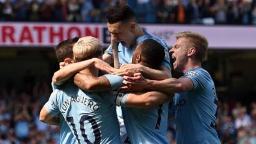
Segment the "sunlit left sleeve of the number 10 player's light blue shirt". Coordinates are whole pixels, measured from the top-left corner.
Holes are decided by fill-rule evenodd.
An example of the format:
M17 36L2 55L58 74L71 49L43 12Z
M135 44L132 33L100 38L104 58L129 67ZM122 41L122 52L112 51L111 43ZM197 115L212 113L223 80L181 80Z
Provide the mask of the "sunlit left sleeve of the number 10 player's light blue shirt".
M60 96L60 90L54 90L49 98L49 100L45 104L45 108L47 113L51 115L58 115L60 110L58 108L58 97Z

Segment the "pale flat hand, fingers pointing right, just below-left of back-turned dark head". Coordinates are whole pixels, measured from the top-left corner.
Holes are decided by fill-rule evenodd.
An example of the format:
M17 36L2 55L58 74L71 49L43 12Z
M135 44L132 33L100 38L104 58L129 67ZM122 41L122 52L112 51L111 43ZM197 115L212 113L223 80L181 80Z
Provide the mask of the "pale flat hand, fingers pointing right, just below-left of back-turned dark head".
M143 66L140 64L124 64L118 71L112 73L118 76L133 76L135 73L141 72Z

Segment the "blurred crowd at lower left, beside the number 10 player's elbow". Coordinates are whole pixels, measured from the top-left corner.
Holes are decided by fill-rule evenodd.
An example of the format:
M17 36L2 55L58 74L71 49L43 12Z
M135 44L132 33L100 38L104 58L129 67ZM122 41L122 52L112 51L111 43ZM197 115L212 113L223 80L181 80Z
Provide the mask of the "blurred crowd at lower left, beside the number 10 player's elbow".
M1 144L59 143L59 127L44 124L38 117L51 92L50 84L41 81L22 88L0 87Z

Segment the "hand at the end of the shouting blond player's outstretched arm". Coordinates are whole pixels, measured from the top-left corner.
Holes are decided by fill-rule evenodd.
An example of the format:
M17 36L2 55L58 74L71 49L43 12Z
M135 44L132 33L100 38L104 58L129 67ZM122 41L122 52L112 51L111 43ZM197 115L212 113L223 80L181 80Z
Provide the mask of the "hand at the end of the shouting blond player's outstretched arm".
M147 86L147 79L141 73L134 74L133 77L124 76L124 86L121 87L122 92L141 91Z

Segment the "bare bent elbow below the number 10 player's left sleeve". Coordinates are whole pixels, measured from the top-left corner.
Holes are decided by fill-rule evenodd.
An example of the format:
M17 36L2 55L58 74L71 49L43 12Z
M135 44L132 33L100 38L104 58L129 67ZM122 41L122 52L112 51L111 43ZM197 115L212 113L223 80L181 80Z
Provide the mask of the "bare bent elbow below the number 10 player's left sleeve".
M50 115L47 112L45 105L40 111L39 120L41 122L44 122L45 124L50 124L50 125L59 125L60 124L60 118L58 116Z

